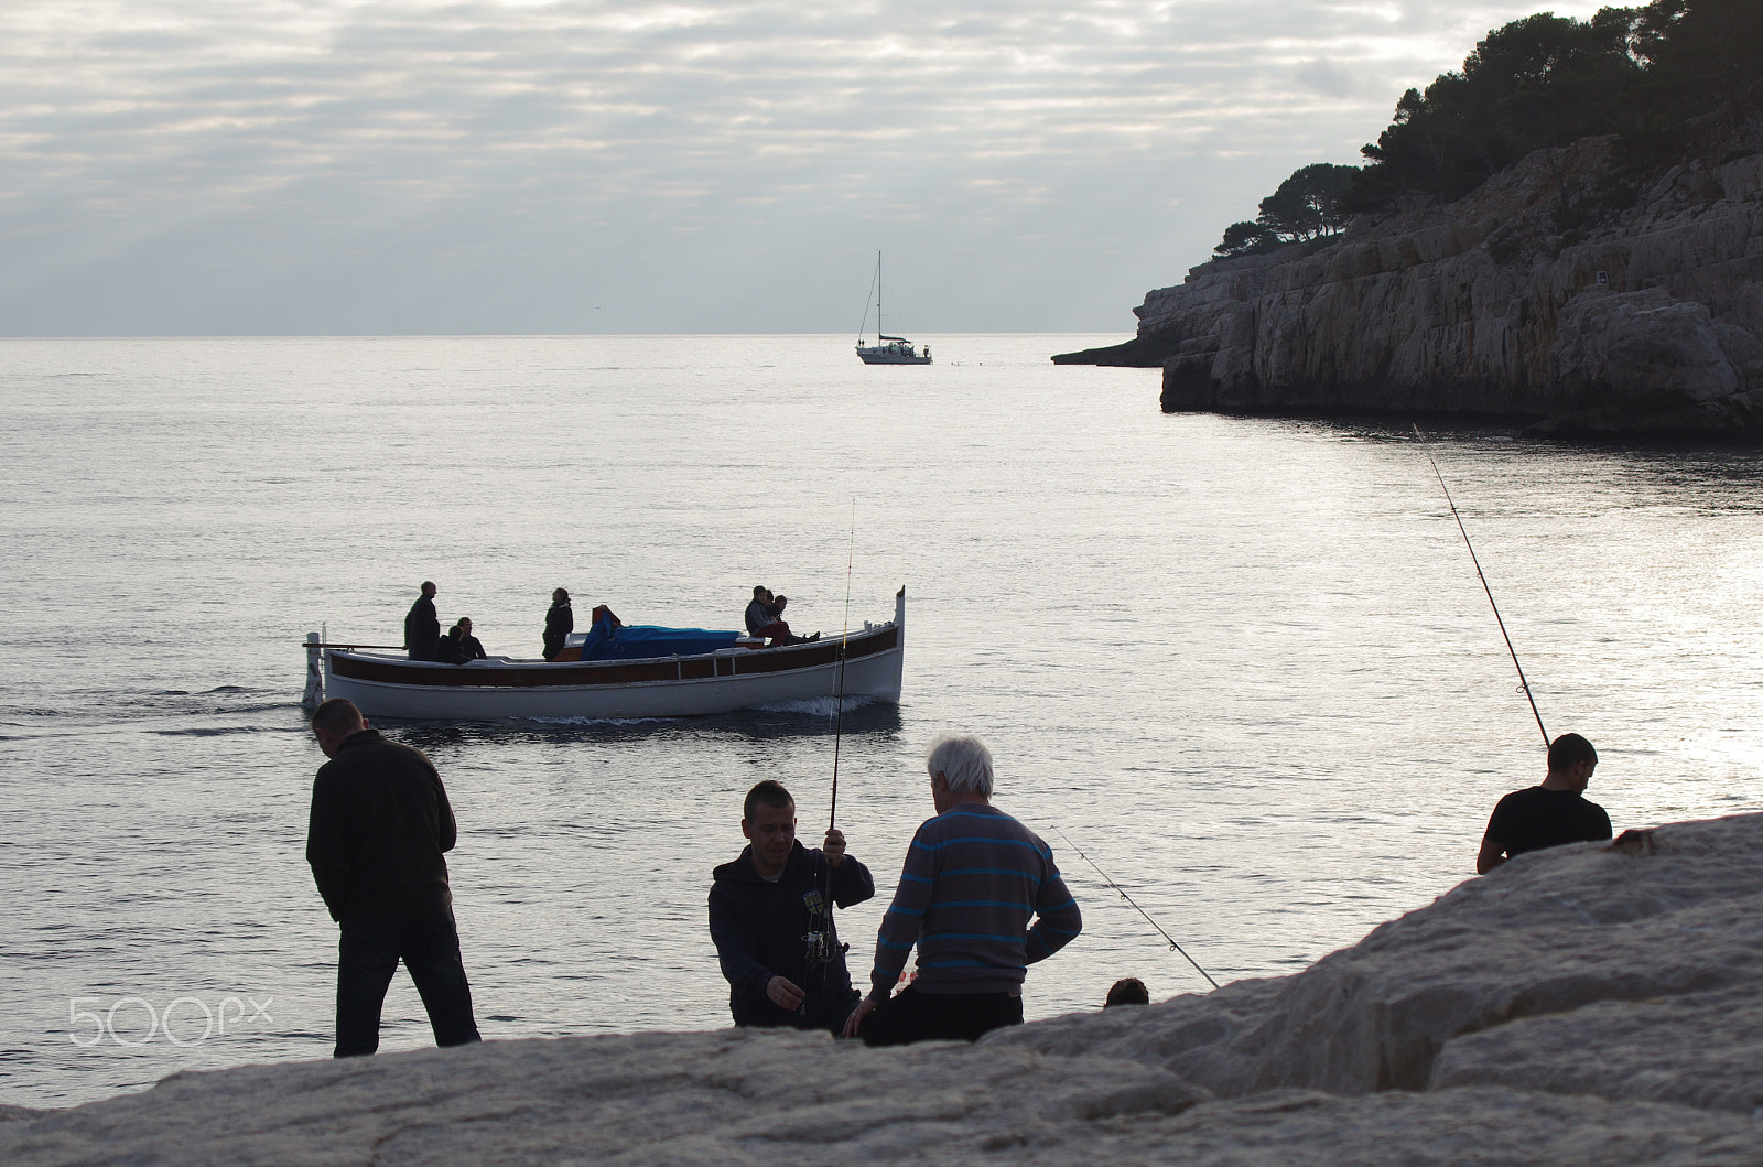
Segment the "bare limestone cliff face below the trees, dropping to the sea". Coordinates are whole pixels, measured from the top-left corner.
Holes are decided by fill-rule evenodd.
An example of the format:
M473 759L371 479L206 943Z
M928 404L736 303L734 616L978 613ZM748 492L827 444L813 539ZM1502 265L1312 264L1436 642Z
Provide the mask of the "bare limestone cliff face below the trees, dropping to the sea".
M1135 340L1164 409L1428 411L1763 435L1763 122L1663 173L1537 152L1456 203L1194 268ZM1560 222L1581 219L1578 231Z

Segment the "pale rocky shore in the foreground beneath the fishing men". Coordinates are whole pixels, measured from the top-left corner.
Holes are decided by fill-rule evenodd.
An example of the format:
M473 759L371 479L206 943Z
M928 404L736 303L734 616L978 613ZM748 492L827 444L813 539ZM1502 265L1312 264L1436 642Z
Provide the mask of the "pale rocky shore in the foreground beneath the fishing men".
M0 1107L33 1163L1758 1163L1763 814L1523 855L1296 977L978 1045L487 1042ZM1033 977L1030 978L1033 991Z

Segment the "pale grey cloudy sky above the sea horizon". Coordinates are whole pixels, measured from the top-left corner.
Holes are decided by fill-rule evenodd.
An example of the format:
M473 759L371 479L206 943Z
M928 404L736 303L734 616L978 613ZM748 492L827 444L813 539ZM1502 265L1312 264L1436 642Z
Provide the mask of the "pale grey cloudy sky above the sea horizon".
M1543 0L0 0L0 335L1118 330Z

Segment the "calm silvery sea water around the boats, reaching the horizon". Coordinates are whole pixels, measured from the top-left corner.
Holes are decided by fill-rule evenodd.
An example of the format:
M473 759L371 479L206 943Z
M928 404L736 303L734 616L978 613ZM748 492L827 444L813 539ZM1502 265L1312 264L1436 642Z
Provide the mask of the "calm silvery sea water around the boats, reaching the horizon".
M1428 451L1617 827L1763 809L1763 457L1162 416L1155 372L1047 363L1109 337L931 340L0 342L0 1102L328 1056L298 642L397 643L423 578L517 654L559 585L733 628L763 582L829 635L906 585L839 825L890 890L924 742L991 740L1086 913L1030 1017L1204 989L1074 846L1218 980L1282 975L1467 878L1541 777ZM485 1037L728 1024L710 867L760 777L825 829L830 714L395 726L458 814ZM400 977L383 1047L428 1042Z

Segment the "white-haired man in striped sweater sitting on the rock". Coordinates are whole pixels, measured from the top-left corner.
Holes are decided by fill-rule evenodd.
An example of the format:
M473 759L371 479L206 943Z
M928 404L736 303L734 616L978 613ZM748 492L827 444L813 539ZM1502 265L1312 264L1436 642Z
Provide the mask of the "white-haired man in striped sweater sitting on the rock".
M991 804L986 742L940 737L924 769L936 818L911 837L876 936L869 996L844 1022L844 1037L860 1035L869 1045L971 1042L1023 1024L1028 966L1063 948L1084 925L1053 848ZM913 945L917 977L890 998Z

